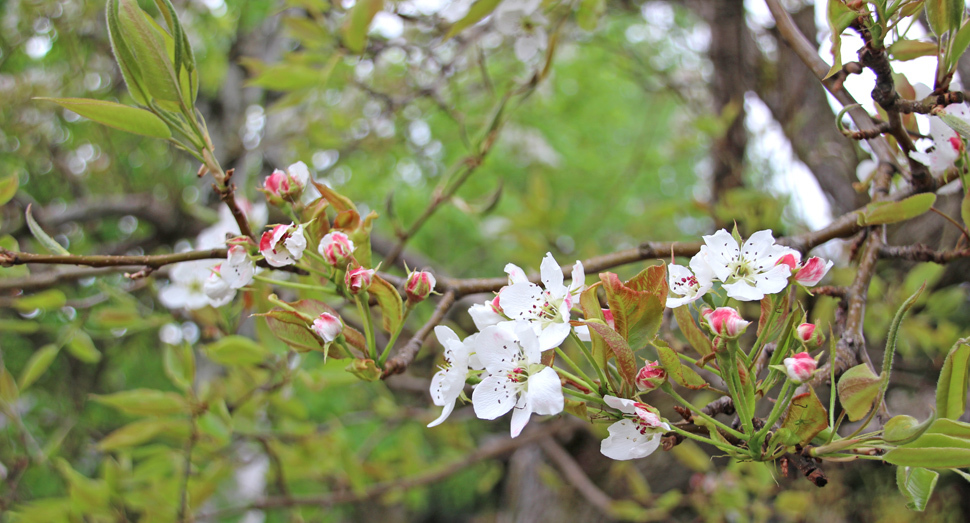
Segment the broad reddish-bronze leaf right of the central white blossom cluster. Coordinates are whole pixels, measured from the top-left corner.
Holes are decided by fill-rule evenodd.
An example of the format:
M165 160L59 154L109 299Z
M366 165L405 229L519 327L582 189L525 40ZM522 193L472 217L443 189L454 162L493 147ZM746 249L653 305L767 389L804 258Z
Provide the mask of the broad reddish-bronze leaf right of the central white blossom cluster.
M657 336L667 303L667 268L647 267L626 283L612 272L600 273L616 332L639 349Z

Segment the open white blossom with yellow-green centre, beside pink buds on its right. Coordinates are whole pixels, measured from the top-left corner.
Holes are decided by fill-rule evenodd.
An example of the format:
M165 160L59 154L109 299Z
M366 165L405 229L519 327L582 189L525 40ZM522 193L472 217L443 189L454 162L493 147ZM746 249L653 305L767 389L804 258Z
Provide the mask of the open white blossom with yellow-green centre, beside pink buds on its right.
M771 231L758 231L738 245L731 233L721 229L704 236L704 243L707 264L729 297L756 301L788 286L791 268L778 260L797 251L776 245Z

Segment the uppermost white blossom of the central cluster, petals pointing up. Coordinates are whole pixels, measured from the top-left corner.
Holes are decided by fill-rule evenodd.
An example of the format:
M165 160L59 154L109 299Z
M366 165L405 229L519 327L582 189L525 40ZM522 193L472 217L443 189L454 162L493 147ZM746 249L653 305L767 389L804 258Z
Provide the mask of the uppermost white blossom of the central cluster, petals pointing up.
M569 336L570 309L578 303L580 294L586 288L583 264L577 261L573 265L572 282L566 287L559 263L552 253L546 253L539 266L544 289L525 279L521 269L509 265L511 267L506 266L505 270L514 283L499 292L502 312L512 320L532 323L539 336L540 350L558 347Z

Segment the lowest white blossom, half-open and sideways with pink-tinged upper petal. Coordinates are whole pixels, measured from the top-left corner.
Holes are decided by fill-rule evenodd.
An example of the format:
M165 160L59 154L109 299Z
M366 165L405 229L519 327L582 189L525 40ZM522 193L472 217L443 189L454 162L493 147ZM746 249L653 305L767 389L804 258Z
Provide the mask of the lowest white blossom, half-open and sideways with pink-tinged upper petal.
M610 395L604 396L603 400L627 415L607 429L610 436L600 444L604 456L615 460L639 459L660 448L660 436L670 431L670 425L651 407Z

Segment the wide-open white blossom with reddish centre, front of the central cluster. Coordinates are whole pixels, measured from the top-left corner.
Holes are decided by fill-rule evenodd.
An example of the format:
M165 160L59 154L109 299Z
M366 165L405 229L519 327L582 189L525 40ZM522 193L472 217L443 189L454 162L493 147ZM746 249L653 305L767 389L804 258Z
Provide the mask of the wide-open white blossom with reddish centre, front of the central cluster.
M512 437L518 436L532 413L562 412L559 374L543 365L539 338L528 322L506 322L486 328L475 340L475 352L485 367L472 393L475 415L495 419L512 411Z

